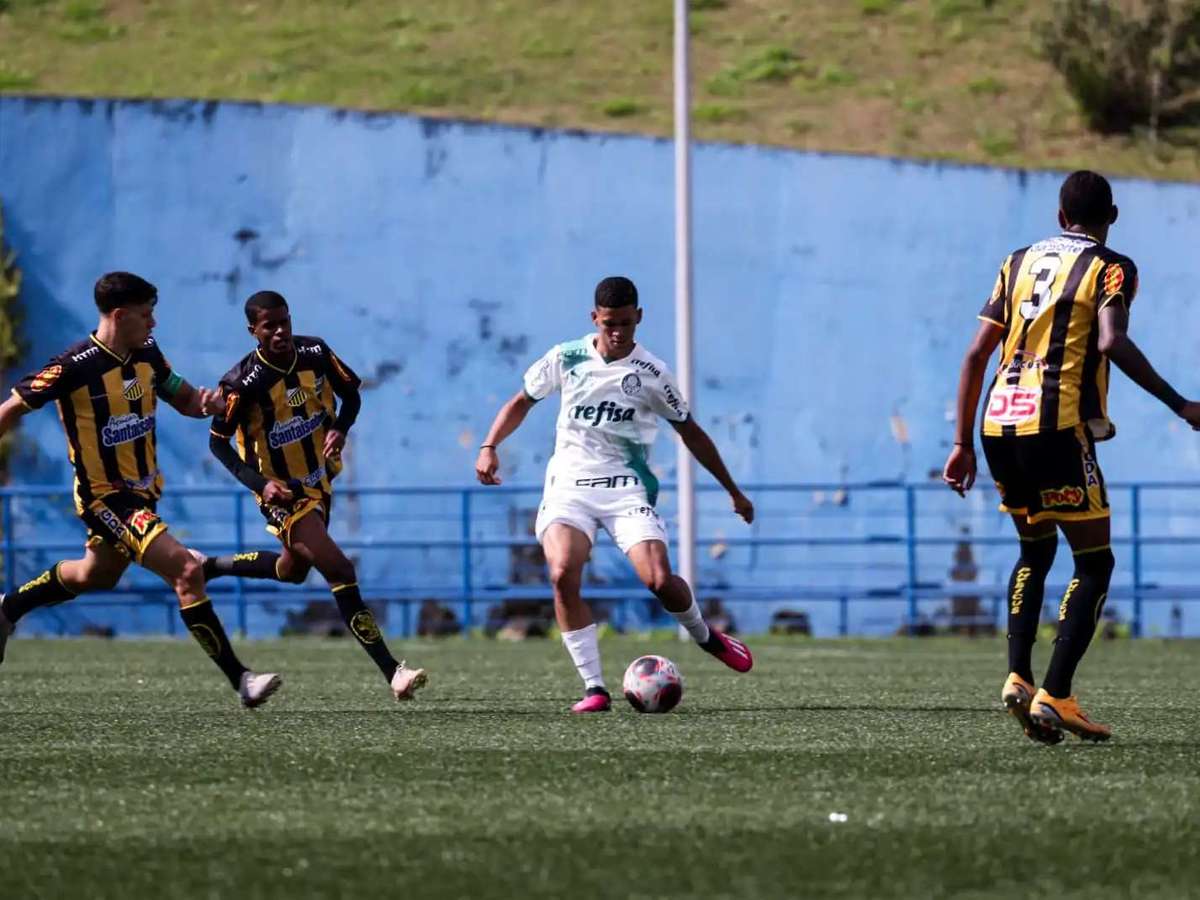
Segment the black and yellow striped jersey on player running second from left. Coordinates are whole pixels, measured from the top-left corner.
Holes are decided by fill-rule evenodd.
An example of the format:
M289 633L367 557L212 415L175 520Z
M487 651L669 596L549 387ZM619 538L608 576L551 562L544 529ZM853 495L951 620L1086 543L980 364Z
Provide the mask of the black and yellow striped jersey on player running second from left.
M330 493L338 461L325 460L325 432L337 413L335 396L356 394L361 380L319 337L293 338L292 365L280 368L254 350L221 379L224 412L212 433L236 437L242 461L266 479L299 480L305 493Z

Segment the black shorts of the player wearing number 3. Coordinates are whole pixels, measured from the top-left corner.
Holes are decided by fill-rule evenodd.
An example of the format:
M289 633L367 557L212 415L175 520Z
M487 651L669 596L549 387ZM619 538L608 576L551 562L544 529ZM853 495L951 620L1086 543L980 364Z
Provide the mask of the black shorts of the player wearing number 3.
M1024 437L984 436L983 452L1002 512L1034 522L1109 516L1109 494L1084 425Z

